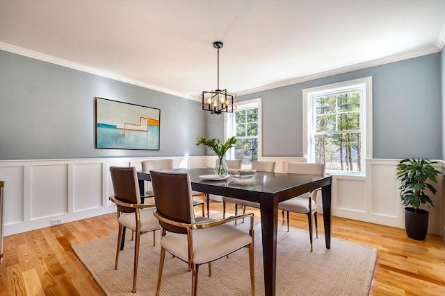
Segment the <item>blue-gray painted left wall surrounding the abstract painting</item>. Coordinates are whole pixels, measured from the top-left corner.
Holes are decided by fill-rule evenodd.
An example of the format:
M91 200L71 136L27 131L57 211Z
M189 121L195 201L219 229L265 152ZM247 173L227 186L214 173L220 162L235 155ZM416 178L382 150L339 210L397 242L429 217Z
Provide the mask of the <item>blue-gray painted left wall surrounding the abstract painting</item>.
M96 96L161 109L160 150L95 149ZM0 51L1 160L203 155L206 116L196 101Z

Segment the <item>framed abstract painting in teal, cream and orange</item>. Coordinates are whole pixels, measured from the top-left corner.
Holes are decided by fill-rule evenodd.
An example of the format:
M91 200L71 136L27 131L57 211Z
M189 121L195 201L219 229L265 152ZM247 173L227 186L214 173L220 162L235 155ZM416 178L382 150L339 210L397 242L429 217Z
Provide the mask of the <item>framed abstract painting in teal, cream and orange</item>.
M96 98L96 148L159 150L161 110Z

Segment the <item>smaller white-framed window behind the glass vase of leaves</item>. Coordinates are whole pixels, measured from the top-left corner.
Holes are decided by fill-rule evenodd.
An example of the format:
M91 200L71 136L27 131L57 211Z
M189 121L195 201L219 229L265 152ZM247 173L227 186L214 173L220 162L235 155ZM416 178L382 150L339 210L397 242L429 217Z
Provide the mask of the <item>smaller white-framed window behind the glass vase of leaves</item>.
M261 99L238 102L236 110L225 116L226 138L238 139L229 159L242 159L248 166L261 155Z

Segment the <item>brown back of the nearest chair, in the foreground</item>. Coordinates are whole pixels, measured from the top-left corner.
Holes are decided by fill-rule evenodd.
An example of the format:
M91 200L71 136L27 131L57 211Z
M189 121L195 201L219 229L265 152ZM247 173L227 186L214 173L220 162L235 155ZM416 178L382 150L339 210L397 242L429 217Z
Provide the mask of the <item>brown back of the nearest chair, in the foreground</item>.
M187 173L150 171L150 177L158 213L180 223L195 223L190 176ZM159 223L168 232L187 233L185 228L162 221Z

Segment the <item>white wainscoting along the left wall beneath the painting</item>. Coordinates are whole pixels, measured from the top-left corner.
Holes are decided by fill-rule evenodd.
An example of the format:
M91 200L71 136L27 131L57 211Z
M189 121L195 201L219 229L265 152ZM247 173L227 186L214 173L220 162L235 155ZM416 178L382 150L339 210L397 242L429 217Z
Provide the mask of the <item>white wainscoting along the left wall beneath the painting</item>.
M202 167L207 157L170 157L175 167ZM115 212L110 166L136 166L147 157L0 161L5 186L4 235Z

